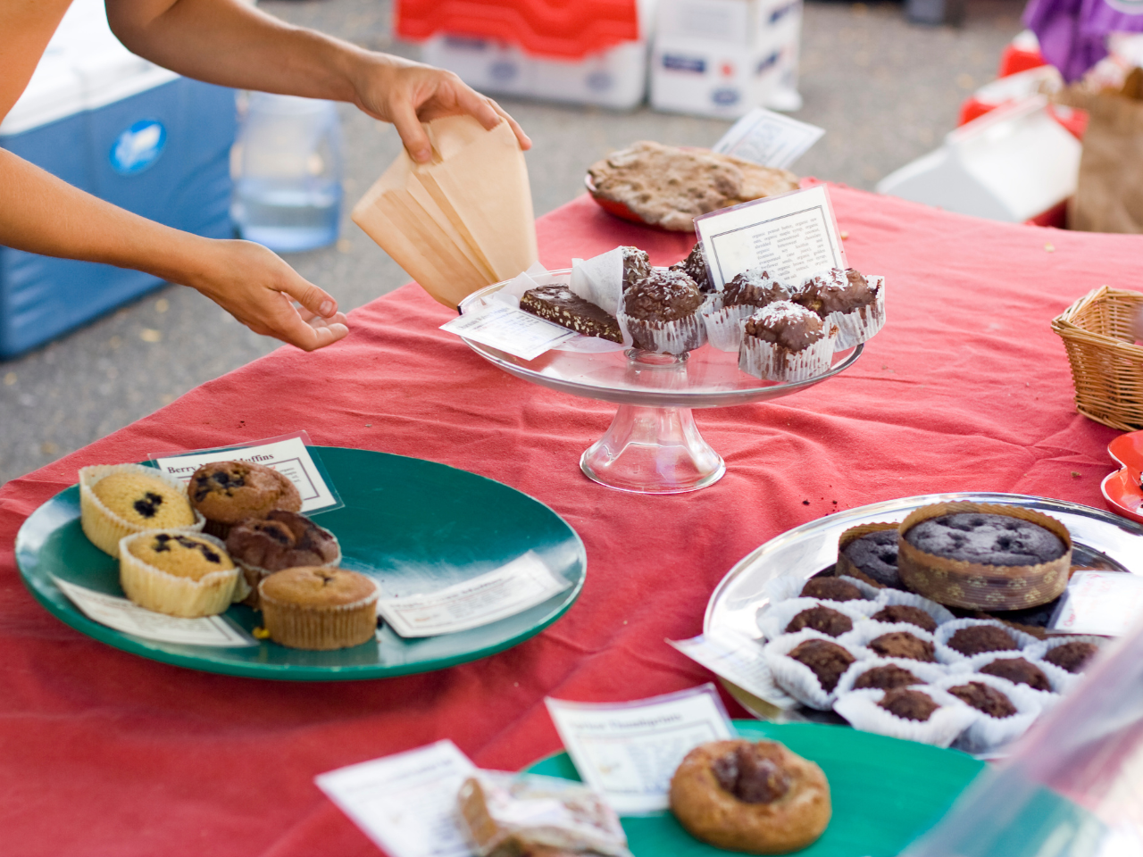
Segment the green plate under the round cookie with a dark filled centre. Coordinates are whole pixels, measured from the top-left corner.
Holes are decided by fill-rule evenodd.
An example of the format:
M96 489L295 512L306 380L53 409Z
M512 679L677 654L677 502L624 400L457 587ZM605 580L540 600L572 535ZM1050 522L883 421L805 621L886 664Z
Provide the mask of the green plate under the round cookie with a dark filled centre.
M738 735L744 738L770 738L785 744L791 751L812 761L817 761L825 769L830 779L833 802L833 818L825 833L814 844L797 851L800 857L890 857L897 855L910 842L932 828L948 812L956 799L968 784L980 774L985 763L966 753L956 750L942 750L927 744L889 738L872 732L861 732L844 726L826 726L822 723L770 723L759 720L735 720ZM816 751L816 752L815 752ZM817 756L815 759L815 755ZM919 809L909 830L898 825L896 828L881 825L884 818L874 819L877 824L866 823L865 827L879 828L881 841L846 841L857 827L861 833L862 819L847 818L846 812L853 794L839 793L838 786L846 787L849 777L839 776L836 766L852 768L870 766L868 774L873 778L870 788L878 798L892 795L892 790L898 791L895 780L887 779L886 769L896 768L909 774L925 771L929 775L929 794L921 796L926 807L918 806L918 794L910 784L910 793L902 795L913 809ZM850 761L852 760L852 761ZM834 770L831 770L834 768ZM878 769L879 768L879 769ZM560 752L541 759L525 768L528 774L546 774L565 779L580 780L575 766L567 753ZM892 802L880 808L884 815L892 815ZM840 810L840 814L839 814ZM894 819L900 820L900 819ZM649 816L626 816L622 818L628 834L628 843L636 857L660 857L661 855L678 855L679 857L717 857L717 855L736 854L704 844L692 838L679 825L670 812L657 812Z

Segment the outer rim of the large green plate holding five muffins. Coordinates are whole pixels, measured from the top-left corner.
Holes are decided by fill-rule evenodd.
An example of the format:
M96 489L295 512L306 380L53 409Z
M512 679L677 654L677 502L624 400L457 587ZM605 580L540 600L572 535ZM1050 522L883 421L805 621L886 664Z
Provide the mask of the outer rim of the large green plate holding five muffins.
M392 452L379 452L374 450L365 449L353 449L347 447L311 447L311 450L318 452L315 456L315 463L319 470L323 474L329 472L328 457L338 458L343 454L360 454L363 456L381 456L387 459L393 459L402 463L415 463L415 467L425 467L429 470L435 470L438 473L448 473L448 475L457 475L461 480L478 480L478 483L488 483L488 486L495 486L490 490L497 492L499 490L509 491L512 495L519 495L519 497L528 500L530 504L535 504L536 507L542 508L544 512L554 518L566 530L567 539L574 540L576 550L576 561L574 566L565 571L572 580L572 586L561 593L561 600L555 604L554 609L544 615L538 622L533 624L530 627L526 628L520 633L512 634L511 636L497 640L493 644L482 646L479 648L473 648L471 650L457 654L450 657L439 658L431 663L415 663L415 664L397 664L397 665L383 665L383 664L365 664L365 665L349 665L349 666L298 666L290 664L257 664L247 662L230 662L230 660L205 660L202 654L199 655L183 655L178 652L171 652L165 650L162 647L170 646L168 643L161 643L157 641L146 640L143 638L131 636L129 634L115 631L106 625L102 625L93 619L85 616L69 599L64 595L59 588L50 580L48 572L39 571L33 566L38 566L39 561L32 551L27 547L27 528L37 526L37 516L45 514L46 510L51 507L54 504L59 504L61 502L67 502L74 497L73 505L75 507L75 514L69 518L66 521L59 522L59 526L65 526L75 522L78 527L79 518L79 486L73 484L59 491L50 499L46 500L40 505L31 515L21 524L19 531L16 535L15 543L15 555L16 564L19 569L21 579L24 586L32 593L32 596L50 612L57 619L64 624L71 626L72 628L79 631L80 633L94 639L99 642L106 643L113 648L127 651L133 655L138 655L141 657L158 660L165 664L173 664L175 666L187 667L191 670L197 670L200 672L217 673L223 675L235 675L245 678L257 678L257 679L277 679L285 681L349 681L349 680L365 680L365 679L383 679L392 678L398 675L410 675L419 674L425 672L432 672L435 670L445 670L450 666L456 666L459 664L465 664L472 660L478 660L490 655L495 655L505 649L510 649L517 646L539 632L546 628L549 625L554 623L565 612L567 612L572 604L575 603L576 599L580 596L583 590L584 580L586 578L588 568L588 556L586 550L584 548L583 540L580 535L572 528L572 526L565 521L554 510L547 506L545 503L537 500L522 491L512 488L511 486L498 482L494 479L488 479L487 476L481 476L475 473L470 473L469 471L459 470L457 467L451 467L446 464L440 464L437 462L429 462L419 458L411 458L409 456L394 455ZM322 458L325 456L326 458ZM335 486L343 494L343 499L345 491L342 486L335 482ZM322 523L321 516L317 519L318 523ZM326 524L322 524L326 526ZM333 529L333 528L330 528ZM335 535L336 531L335 531ZM95 550L93 547L93 550ZM105 554L104 554L105 555ZM111 558L106 558L107 561L112 561ZM42 587L50 587L47 592L41 591ZM54 598L53 598L54 595ZM549 601L551 601L550 599ZM549 603L549 602L544 602ZM231 610L234 610L234 606ZM243 608L247 609L247 608ZM536 610L537 608L530 608L530 610ZM230 611L227 611L229 614ZM510 622L514 617L507 617L501 622ZM486 628L493 628L498 623L493 623L491 625L485 626ZM479 628L475 628L479 630ZM474 630L474 631L475 631ZM472 633L464 632L464 633ZM259 646L269 646L272 643L263 642ZM199 650L208 647L183 647L187 649ZM360 648L360 647L358 647ZM227 651L231 649L216 649L211 647L211 651ZM299 651L299 650L287 650L288 652ZM343 649L341 651L354 651L354 649ZM309 654L309 652L304 652ZM331 652L317 652L319 655L329 655Z

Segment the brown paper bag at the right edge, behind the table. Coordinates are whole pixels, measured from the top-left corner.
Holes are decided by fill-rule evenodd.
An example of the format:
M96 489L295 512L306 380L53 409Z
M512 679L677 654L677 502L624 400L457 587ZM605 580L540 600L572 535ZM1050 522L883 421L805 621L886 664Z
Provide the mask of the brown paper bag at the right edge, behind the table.
M1143 232L1143 71L1133 71L1119 93L1071 103L1088 112L1088 123L1068 229Z

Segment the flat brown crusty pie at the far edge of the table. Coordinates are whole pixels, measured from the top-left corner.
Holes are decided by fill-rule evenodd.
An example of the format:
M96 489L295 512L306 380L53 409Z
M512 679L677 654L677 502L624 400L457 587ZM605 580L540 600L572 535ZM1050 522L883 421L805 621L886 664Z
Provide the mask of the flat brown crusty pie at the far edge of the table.
M798 190L798 177L789 170L650 141L613 152L588 173L597 194L676 232L694 230L698 215Z

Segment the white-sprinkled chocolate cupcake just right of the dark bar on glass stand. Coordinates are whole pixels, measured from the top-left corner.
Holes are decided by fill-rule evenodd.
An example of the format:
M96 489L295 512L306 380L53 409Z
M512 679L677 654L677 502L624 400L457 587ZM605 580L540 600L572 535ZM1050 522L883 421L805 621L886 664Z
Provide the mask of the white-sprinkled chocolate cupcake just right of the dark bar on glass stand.
M703 296L681 271L656 271L624 293L620 323L637 347L660 354L685 354L706 342L698 317Z

